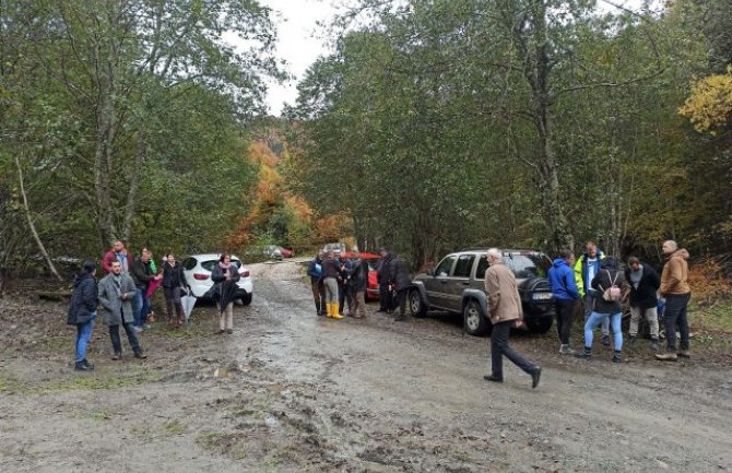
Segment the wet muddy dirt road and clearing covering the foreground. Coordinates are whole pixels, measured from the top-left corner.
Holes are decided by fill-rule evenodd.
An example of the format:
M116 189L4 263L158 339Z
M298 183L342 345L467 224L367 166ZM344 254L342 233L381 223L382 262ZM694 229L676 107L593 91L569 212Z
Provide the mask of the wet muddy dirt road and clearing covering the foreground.
M251 270L234 334L197 307L120 363L97 326L92 374L72 369L64 305L0 299L0 472L732 471L729 366L517 335L539 388L508 362L488 383L487 339L446 317L318 318L300 267Z

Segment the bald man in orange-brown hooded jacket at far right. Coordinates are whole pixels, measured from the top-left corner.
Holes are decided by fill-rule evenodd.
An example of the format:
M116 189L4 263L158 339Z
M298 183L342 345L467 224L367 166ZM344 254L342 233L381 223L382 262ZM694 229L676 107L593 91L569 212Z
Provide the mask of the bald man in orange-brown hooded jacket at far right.
M661 297L666 298L663 318L666 326L666 353L656 355L657 359L675 362L681 356L689 358L688 353L688 319L686 306L692 297L688 286L688 251L678 248L674 240L663 243L663 255L666 263L661 273ZM681 343L676 351L676 326L681 332Z

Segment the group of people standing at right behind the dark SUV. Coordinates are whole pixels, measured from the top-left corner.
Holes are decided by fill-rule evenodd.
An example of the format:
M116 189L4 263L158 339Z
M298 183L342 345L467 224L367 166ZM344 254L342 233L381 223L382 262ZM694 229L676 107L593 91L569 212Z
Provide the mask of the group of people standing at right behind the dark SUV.
M659 307L663 307L666 331L665 353L656 354L659 360L688 358L689 336L686 307L692 291L688 285L688 251L678 248L674 240L662 246L666 262L661 276L650 264L637 257L628 258L627 268L621 271L618 261L605 256L593 241L578 259L571 250L563 250L553 261L548 272L554 295L559 336L559 353L582 358L592 356L594 330L601 326L602 343L611 344L613 332L613 362L621 363L623 350L622 304L630 307L628 343L635 343L641 319L648 323L651 347L659 350ZM585 314L583 348L575 351L569 345L575 307L581 304ZM681 334L676 346L676 328Z

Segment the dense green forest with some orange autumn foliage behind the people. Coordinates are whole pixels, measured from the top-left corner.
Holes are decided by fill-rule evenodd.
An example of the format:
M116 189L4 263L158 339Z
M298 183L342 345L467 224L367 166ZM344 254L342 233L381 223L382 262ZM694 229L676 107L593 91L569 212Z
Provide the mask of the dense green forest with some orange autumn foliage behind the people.
M358 0L327 32L271 117L258 1L0 0L0 281L116 238L732 267L732 0Z

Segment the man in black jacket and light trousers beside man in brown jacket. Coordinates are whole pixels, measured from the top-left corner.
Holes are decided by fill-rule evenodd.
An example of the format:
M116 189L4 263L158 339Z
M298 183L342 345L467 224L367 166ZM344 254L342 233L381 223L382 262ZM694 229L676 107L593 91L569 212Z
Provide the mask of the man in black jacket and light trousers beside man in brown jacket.
M648 322L653 350L658 350L659 316L658 289L661 286L659 274L648 264L641 264L638 258L628 258L625 279L630 284L630 329L628 343L634 343L638 335L638 321L641 317Z

